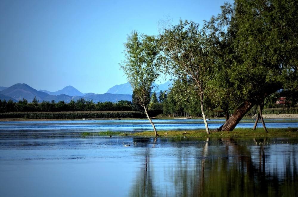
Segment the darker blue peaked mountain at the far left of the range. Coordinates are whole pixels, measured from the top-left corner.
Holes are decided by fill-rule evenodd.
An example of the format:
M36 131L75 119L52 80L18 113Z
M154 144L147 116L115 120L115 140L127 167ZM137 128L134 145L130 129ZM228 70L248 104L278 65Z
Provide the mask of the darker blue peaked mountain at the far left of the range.
M36 97L36 99L38 100L41 100L42 98L49 95L45 92L37 91L24 83L17 83L15 85L7 87L5 90L0 91L0 93L9 96L17 101L25 98L29 102L31 102L34 97Z

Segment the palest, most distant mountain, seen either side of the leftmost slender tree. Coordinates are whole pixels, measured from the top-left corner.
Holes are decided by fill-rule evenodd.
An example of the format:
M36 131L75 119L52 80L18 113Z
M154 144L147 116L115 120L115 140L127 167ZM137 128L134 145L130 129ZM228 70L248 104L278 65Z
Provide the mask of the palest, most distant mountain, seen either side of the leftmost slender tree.
M167 81L163 84L154 84L154 86L156 86L153 91L154 92L159 92L160 90L169 90L170 87L172 87L172 82L171 81ZM120 84L120 85L115 85L113 87L111 87L110 89L108 89L107 93L111 93L111 94L130 94L132 95L132 88L129 82L124 83L124 84Z

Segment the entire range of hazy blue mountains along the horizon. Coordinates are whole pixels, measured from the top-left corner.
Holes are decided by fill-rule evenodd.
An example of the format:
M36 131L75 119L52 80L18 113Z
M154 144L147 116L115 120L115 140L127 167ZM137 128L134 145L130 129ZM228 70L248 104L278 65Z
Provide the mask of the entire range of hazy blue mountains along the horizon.
M166 82L159 85L159 87L154 91L159 93L159 90L168 90L171 85L171 82ZM29 102L31 102L34 98L36 98L39 102L54 100L55 102L65 101L68 103L71 100L76 101L81 98L84 98L85 100L93 100L95 103L105 101L117 102L120 100L131 101L131 95L132 90L129 83L115 85L104 94L83 94L72 86L66 86L62 90L58 90L56 92L50 92L47 90L38 91L27 84L20 83L10 87L0 86L0 100L13 100L14 102L22 100L23 98Z

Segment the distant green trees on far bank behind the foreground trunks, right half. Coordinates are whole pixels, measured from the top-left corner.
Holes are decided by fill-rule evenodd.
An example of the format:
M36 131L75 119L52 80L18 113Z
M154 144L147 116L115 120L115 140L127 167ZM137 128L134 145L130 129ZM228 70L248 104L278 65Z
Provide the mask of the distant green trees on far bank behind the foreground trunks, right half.
M186 95L181 90L181 81L176 80L173 87L165 92L164 101L161 102L163 114L172 117L193 116L202 117L201 108L198 99L193 99L190 93ZM280 97L286 98L285 104L276 104ZM297 92L289 93L286 91L275 92L271 96L264 99L263 114L297 114L298 113L298 95ZM223 110L221 107L212 104L212 97L206 95L204 98L205 114L207 117L223 118L229 117L237 108L237 105L231 103L229 108ZM156 107L155 107L156 108ZM228 113L228 114L226 114ZM252 107L247 116L252 117L258 114L258 107Z

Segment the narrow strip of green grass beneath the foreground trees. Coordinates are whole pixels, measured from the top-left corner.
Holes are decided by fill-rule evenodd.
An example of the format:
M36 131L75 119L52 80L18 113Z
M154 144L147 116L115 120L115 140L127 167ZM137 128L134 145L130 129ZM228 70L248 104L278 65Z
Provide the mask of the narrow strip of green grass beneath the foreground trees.
M263 128L252 129L234 129L229 132L211 132L207 135L206 130L190 130L190 131L157 131L159 137L298 137L298 128L286 129L267 129L266 133ZM186 132L186 134L183 134ZM144 131L131 134L142 137L155 137L153 131Z

